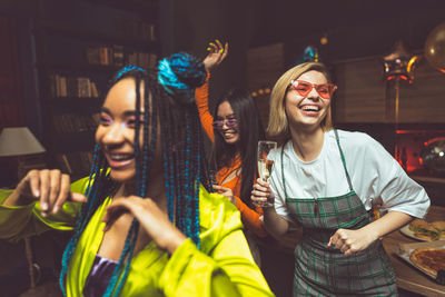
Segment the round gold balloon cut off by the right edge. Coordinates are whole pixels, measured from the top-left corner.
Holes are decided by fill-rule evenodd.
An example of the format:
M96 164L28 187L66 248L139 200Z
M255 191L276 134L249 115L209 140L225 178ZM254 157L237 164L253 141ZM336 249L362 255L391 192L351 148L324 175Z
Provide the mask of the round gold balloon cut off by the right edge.
M431 31L426 38L424 51L429 65L445 72L445 22Z

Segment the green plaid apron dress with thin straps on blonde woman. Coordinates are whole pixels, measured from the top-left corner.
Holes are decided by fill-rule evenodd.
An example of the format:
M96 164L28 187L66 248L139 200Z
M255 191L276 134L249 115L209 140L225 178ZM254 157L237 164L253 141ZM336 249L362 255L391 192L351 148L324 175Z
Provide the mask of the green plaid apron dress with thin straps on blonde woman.
M397 296L395 274L380 240L352 256L327 247L337 229L358 229L370 222L369 214L353 189L337 130L334 132L349 185L349 192L343 196L289 198L281 148L286 205L290 216L304 227L303 239L294 253L294 296Z

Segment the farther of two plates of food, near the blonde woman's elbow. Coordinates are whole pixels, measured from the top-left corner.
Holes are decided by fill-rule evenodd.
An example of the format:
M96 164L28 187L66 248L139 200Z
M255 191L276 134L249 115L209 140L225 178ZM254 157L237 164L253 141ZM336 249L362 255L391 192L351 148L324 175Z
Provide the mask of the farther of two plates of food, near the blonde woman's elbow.
M422 241L435 241L445 239L445 220L428 222L424 219L414 219L402 227L400 232Z

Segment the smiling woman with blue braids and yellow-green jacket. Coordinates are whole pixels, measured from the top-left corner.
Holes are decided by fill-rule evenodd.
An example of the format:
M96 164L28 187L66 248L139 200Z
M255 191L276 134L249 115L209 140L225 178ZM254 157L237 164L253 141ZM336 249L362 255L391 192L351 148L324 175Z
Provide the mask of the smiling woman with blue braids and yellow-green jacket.
M185 53L159 72L122 69L101 108L90 177L70 186L59 170L30 171L0 197L0 237L75 227L60 276L68 296L271 296L238 211L208 192L192 100L205 76Z

